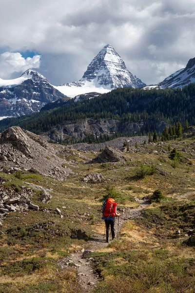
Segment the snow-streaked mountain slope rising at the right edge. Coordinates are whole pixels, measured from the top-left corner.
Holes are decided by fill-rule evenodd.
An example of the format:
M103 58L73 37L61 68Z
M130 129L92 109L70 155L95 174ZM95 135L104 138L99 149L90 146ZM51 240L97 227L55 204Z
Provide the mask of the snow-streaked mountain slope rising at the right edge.
M185 68L169 75L161 83L145 86L144 89L182 88L195 83L195 58L188 61Z

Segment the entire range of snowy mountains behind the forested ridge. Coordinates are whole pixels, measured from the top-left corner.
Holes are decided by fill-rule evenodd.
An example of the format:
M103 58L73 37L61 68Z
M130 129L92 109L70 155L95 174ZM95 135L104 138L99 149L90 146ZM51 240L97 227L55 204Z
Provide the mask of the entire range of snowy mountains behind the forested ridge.
M114 47L107 44L78 82L55 86L31 69L17 79L0 79L0 119L31 114L41 108L53 109L66 105L72 98L71 103L83 101L122 87L165 89L182 88L190 83L195 83L195 58L159 84L146 86L126 68Z

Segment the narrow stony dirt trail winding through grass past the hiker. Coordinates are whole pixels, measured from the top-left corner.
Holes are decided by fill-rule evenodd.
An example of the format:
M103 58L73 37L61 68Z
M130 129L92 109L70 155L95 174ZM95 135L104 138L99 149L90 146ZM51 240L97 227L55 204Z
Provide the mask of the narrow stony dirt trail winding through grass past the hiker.
M128 221L129 219L142 217L142 209L148 206L148 202L145 200L138 200L137 202L140 206L137 209L129 209L125 208L124 211L121 212L120 220L119 220L119 231L123 223ZM116 232L117 232L117 223L116 223ZM117 233L116 233L117 234ZM117 236L117 235L116 235ZM98 251L108 246L108 243L105 242L105 236L100 234L92 235L94 240L88 242L88 250L89 251ZM59 261L59 265L62 268L70 268L70 264L72 267L77 268L78 272L78 281L82 288L83 293L90 293L92 290L97 287L99 282L99 277L97 273L93 271L92 259L82 258L83 251L77 251L72 253L69 257L63 258Z

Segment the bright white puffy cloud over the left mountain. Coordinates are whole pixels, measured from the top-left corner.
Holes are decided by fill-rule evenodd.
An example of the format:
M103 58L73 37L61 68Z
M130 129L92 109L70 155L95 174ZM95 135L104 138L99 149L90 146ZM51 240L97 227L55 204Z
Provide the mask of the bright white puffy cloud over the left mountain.
M39 68L40 55L23 58L20 53L4 52L0 54L0 78L10 79L15 72L24 72L29 68Z

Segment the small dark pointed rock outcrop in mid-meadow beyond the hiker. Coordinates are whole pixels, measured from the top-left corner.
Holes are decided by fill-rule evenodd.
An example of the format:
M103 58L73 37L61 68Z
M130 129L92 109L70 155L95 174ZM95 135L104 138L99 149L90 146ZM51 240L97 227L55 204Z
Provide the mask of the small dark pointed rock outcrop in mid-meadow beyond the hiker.
M119 149L106 146L105 149L90 163L108 163L108 162L124 162L127 159L123 156Z

